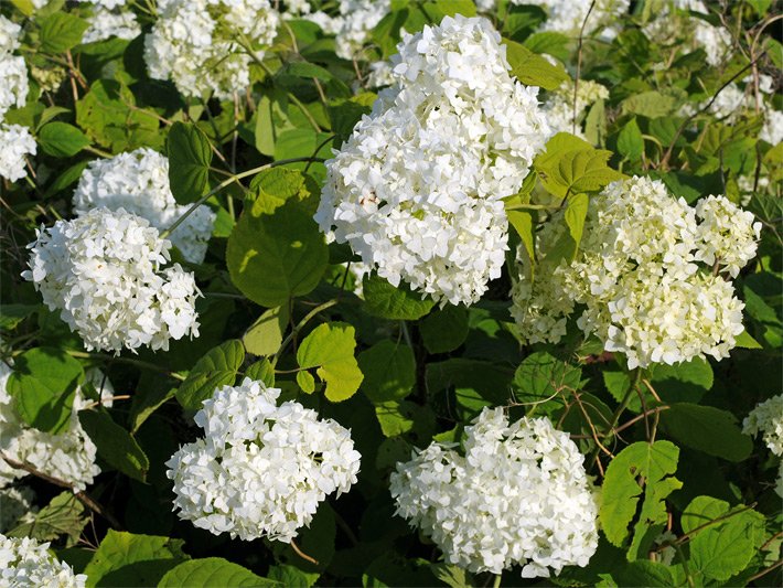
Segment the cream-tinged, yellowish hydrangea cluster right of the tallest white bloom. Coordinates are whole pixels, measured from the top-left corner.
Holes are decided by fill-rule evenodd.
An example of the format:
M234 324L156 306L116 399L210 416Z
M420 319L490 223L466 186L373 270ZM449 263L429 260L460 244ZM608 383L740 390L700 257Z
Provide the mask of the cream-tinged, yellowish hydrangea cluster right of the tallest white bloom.
M561 215L550 223L557 224ZM744 304L730 281L698 263L736 276L755 255L760 229L723 196L694 210L661 181L614 182L591 201L571 264L546 258L562 228L539 234L543 261L532 285L529 260L518 254L514 318L523 339L557 343L573 304L584 304L578 327L607 351L625 353L631 368L727 357L743 330Z

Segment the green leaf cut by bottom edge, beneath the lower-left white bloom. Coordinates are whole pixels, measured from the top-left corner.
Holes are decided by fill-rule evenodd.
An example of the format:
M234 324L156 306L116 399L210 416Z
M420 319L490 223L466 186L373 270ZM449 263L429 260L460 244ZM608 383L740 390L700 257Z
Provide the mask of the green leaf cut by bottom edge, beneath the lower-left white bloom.
M191 559L171 568L158 588L207 588L212 586L282 586L256 576L249 569L222 557Z

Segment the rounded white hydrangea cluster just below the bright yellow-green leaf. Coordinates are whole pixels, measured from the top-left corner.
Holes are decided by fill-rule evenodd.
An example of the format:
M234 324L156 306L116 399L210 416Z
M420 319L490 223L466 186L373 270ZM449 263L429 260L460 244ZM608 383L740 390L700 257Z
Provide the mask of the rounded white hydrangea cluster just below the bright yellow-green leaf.
M289 543L328 494L356 483L350 431L299 403L277 406L279 395L245 378L204 402L195 423L205 437L165 463L180 518L216 535Z

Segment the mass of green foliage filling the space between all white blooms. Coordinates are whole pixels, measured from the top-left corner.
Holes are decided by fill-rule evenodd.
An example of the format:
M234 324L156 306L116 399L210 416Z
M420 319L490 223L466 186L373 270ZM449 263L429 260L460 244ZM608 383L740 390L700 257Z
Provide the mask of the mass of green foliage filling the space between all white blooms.
M496 24L523 83L551 90L572 77L540 55L547 53L611 87L610 98L587 113L587 141L554 137L510 199L513 238L535 258L539 214L565 207L569 238L558 255L572 256L590 195L624 175L661 179L688 202L710 193L739 201L738 178L750 175L757 185L766 178L772 188L749 203L764 223L759 257L737 282L748 349L721 363L629 372L576 328L558 346L523 346L508 313L507 276L471 308L435 308L372 274L360 298L350 271L357 258L346 246L328 245L312 215L323 158L375 98L362 86L366 64L339 58L318 26L291 20L265 67L253 70L253 92L236 103L185 100L170 83L147 76L143 35L81 44L82 8L65 11L54 1L33 11L12 0L2 10L25 19L29 63L62 67L67 79L56 90L31 82L28 105L7 116L30 127L42 151L28 184L2 186L0 329L3 354L13 356L9 392L29 425L55 434L69 418L77 385L97 399L83 384L86 367L105 372L116 402L79 413L105 473L74 496L55 495L57 481L35 472L31 483L42 504L53 498L11 534L55 541L60 557L96 586L481 582L439 563L437 550L393 515L387 481L414 447L459 441L483 407L507 406L515 418L547 415L569 431L601 480L599 550L587 568L567 568L553 581L781 582L776 467L738 420L777 392L782 375L783 148L758 140L758 114L731 125L704 109L678 115L748 72L781 66L770 2L730 3L722 18L740 33L720 68L704 67L702 50L678 52L645 38L646 2L616 24L613 41L578 43L535 32L545 19L540 9L501 4ZM415 32L457 12L472 15L475 7L393 2L373 32L373 57L394 53L403 29ZM41 223L71 215L74 184L92 158L139 147L168 153L180 204L204 201L217 213L205 263L189 266L204 293L201 335L165 353L85 353L20 279L23 246ZM282 544L212 536L171 512L164 461L195 437L189 417L215 387L245 376L350 427L363 456L354 491L323 504L297 539L312 560ZM669 538L656 543L664 531ZM518 581L511 573L504 578Z

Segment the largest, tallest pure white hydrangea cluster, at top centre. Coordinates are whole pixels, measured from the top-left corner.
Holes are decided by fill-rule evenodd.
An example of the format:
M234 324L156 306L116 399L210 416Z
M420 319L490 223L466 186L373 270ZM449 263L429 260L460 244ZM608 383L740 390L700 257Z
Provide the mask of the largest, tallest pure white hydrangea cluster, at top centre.
M397 286L471 303L501 274L502 199L516 193L549 128L482 18L406 35L398 83L326 162L315 220Z

